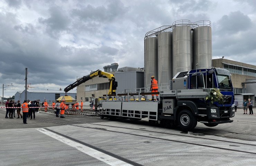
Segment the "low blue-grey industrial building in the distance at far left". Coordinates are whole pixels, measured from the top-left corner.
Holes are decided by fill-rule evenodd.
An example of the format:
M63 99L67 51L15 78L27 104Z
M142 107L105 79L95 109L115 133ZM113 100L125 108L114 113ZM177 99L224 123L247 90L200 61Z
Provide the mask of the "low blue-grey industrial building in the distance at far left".
M56 90L27 90L27 99L30 101L33 100L40 100L40 102L44 102L44 100L47 100L48 104L52 104L53 101L55 101L60 96L64 96L66 93L62 90L56 91ZM67 93L68 96L71 96L76 99L76 91L70 91ZM24 91L18 91L15 95L15 101L20 100L23 102L25 100L25 90Z

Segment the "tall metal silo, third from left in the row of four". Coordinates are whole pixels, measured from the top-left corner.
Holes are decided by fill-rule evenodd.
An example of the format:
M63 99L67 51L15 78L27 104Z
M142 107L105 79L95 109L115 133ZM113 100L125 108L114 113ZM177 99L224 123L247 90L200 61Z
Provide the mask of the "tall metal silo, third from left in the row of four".
M177 72L192 69L191 27L176 26L173 28L173 77Z

